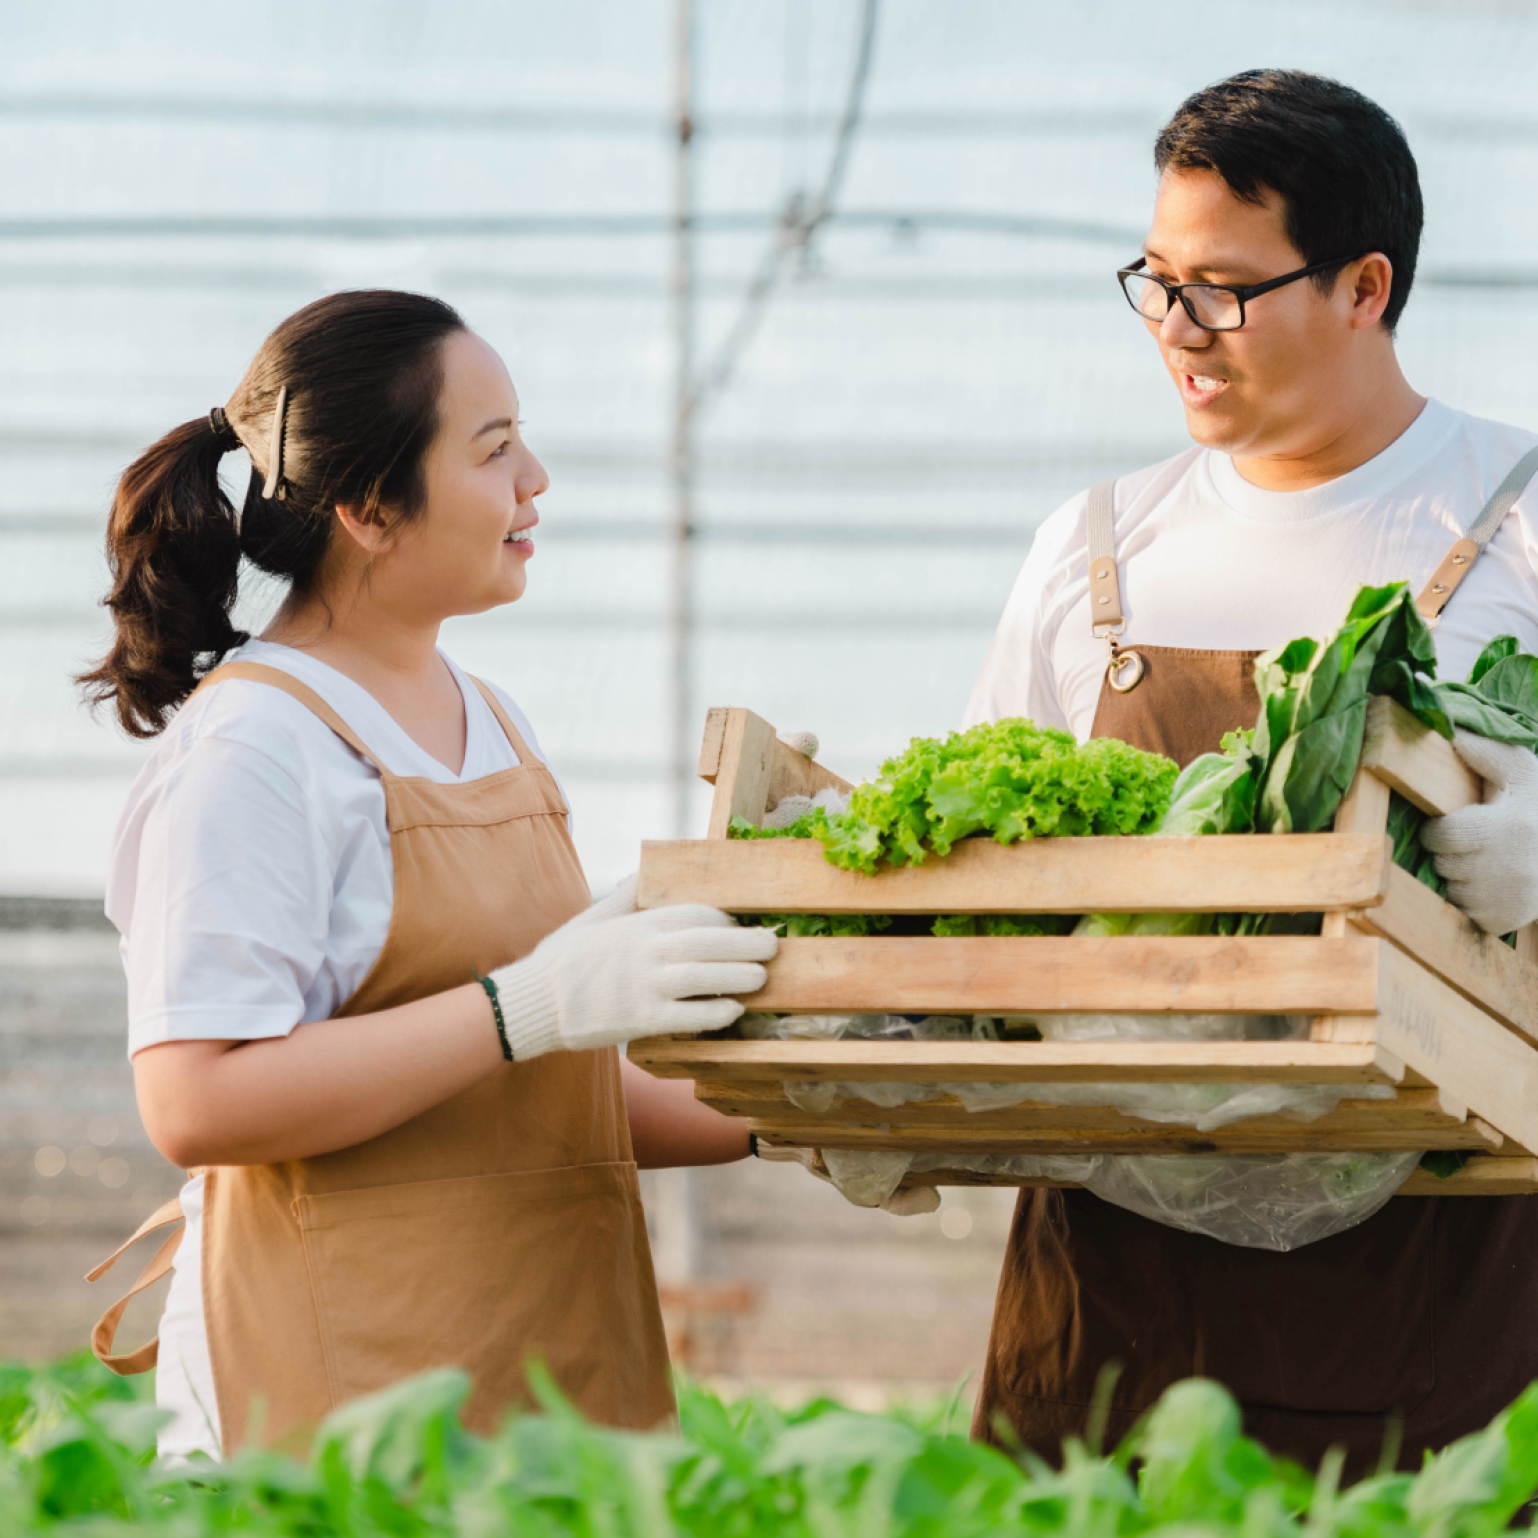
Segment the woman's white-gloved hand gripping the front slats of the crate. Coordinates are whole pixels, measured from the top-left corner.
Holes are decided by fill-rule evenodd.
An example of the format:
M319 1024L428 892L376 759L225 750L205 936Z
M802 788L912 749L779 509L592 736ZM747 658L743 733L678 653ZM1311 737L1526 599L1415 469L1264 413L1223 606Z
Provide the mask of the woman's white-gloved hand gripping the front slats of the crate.
M640 1037L720 1030L774 957L772 929L738 929L715 907L635 912L635 878L492 972L514 1061Z

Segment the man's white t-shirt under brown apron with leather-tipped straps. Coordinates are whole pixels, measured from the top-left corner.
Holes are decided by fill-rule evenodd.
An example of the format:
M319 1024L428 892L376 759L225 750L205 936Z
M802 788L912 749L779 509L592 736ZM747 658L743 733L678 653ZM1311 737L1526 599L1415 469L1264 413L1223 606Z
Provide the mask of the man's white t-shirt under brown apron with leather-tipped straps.
M1538 435L1432 400L1377 458L1310 491L1263 491L1193 448L1117 481L1121 644L1266 651L1340 626L1357 589L1420 592ZM1106 672L1090 634L1087 492L1037 531L966 724L1027 715L1089 737ZM1495 635L1538 652L1538 477L1433 631L1440 677Z

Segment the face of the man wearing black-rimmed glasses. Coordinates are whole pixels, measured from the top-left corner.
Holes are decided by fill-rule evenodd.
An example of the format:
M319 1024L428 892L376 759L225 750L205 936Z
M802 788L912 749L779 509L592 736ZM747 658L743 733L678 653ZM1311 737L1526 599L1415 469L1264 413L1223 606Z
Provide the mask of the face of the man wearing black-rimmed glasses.
M1144 254L1147 271L1170 283L1243 288L1306 266L1284 232L1281 197L1246 203L1213 171L1164 172ZM1180 305L1161 323L1144 321L1198 443L1241 458L1320 446L1355 378L1364 321L1352 272L1329 294L1301 278L1250 300L1240 331L1203 331Z

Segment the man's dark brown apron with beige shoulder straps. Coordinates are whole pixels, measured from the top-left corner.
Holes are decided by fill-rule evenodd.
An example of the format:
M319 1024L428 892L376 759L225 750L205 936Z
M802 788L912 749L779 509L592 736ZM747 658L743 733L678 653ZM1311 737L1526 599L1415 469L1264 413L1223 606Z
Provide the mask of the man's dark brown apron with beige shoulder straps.
M1100 549L1090 546L1092 603L1106 597L1098 618L1118 626L1104 632L1114 669L1121 614L1109 495L1103 524ZM1438 568L1423 612L1441 611L1446 581ZM1257 652L1140 644L1137 655L1141 680L1126 692L1107 669L1094 737L1186 764L1255 723ZM1416 1467L1426 1449L1484 1426L1538 1378L1538 1204L1400 1198L1344 1233L1278 1253L1166 1227L1087 1190L1023 1190L974 1433L994 1438L1001 1418L1055 1455L1083 1433L1107 1363L1121 1367L1112 1440L1172 1383L1200 1375L1233 1392L1246 1432L1273 1452L1317 1467L1341 1446L1358 1476L1398 1420L1400 1464Z

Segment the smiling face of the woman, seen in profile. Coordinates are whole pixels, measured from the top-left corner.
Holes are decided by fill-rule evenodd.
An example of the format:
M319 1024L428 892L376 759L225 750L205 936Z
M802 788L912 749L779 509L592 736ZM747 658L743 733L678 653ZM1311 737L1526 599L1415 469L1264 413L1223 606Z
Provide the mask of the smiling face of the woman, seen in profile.
M423 474L426 506L381 541L371 595L421 620L521 598L540 521L534 498L551 481L518 435L518 392L506 366L468 331L443 345L438 435Z

